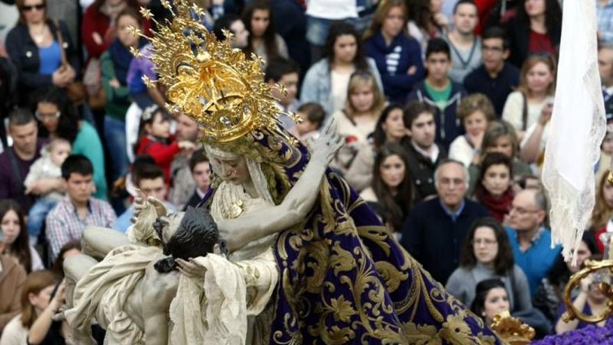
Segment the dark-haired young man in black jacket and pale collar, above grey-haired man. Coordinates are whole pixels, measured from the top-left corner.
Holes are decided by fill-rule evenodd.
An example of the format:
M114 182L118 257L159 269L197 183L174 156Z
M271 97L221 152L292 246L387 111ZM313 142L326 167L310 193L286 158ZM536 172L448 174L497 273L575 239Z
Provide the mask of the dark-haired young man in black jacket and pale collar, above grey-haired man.
M436 144L436 109L413 100L404 109L403 121L411 138L407 147L409 171L413 180L414 200L419 202L436 195L434 171L447 157L445 149Z

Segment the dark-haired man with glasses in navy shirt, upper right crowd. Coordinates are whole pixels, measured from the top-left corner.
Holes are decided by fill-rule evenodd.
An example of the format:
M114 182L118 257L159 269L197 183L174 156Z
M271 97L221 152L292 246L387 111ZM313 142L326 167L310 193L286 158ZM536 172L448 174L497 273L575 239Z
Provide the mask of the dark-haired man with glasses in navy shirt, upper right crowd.
M468 93L479 92L488 96L500 117L507 96L520 80L518 68L506 62L509 45L503 29L492 26L483 32L481 54L483 65L465 77L464 87Z

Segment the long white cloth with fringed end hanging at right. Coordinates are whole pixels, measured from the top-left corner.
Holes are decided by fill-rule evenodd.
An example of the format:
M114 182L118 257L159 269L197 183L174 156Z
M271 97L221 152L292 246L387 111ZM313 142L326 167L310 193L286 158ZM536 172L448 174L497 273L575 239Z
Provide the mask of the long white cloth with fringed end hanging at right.
M564 0L557 88L543 183L551 200L552 244L571 259L594 205L594 164L605 135L598 75L595 1Z

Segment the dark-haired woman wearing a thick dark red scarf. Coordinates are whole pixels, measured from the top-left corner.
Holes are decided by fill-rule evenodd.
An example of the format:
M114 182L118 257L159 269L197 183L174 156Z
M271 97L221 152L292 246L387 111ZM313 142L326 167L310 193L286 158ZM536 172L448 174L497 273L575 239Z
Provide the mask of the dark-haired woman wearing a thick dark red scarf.
M502 153L489 153L481 162L481 174L474 198L486 206L492 217L504 223L513 202L513 162Z

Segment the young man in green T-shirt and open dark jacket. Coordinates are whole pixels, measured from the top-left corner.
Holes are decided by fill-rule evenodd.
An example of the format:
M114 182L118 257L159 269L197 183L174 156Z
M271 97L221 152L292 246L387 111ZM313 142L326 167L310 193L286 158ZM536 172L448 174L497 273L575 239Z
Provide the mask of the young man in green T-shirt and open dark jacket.
M410 93L408 100L419 100L437 108L436 142L449 151L451 141L464 134L462 123L456 116L460 100L466 95L463 86L449 79L451 52L442 38L428 41L426 48L427 77Z

